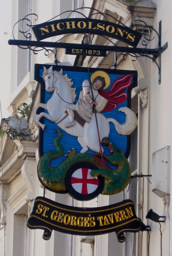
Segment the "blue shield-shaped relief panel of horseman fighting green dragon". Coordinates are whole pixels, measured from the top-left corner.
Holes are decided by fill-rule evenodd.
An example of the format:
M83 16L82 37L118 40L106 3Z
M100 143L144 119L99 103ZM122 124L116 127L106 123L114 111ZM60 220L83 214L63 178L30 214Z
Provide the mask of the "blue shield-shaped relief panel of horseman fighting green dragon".
M130 109L137 71L35 65L40 103L38 176L57 193L90 200L117 194L128 185Z

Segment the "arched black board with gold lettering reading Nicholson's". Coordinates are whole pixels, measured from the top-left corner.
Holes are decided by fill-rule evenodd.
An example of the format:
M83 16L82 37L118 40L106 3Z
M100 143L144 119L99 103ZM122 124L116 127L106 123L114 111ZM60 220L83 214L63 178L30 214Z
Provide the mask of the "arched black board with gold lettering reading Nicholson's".
M68 33L88 33L108 36L136 47L142 34L118 23L105 20L70 18L47 21L32 27L37 40Z

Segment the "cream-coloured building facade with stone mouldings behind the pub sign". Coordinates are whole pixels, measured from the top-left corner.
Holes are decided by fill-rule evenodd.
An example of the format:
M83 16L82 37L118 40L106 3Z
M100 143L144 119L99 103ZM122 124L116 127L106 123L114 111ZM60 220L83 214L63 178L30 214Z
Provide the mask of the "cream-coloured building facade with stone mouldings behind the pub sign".
M78 12L71 11L75 9L78 9ZM171 10L170 0L165 3L161 0L9 0L3 3L0 16L0 45L3 49L0 101L1 129L6 132L0 138L0 256L172 255ZM141 42L144 44L148 39L149 49L157 48L158 44L160 46L160 38L155 31L160 32L161 24L161 46L168 42L168 48L157 59L148 56L135 58L135 54L124 55L122 52L117 52L116 56L112 51L108 51L106 57L66 55L63 48L58 48L56 53L61 65L114 69L116 63L116 69L138 71L138 87L133 89L131 100L132 110L138 118L138 126L131 135L129 156L132 177L135 178L131 178L130 185L124 193L99 195L93 200L83 202L73 199L68 194L55 194L45 190L47 198L76 207L105 206L118 203L123 198L131 199L135 204L137 216L146 226L151 227L151 231L126 233L124 243L118 242L115 233L83 237L53 232L50 240L45 241L42 239L42 230L31 230L26 226L35 197L43 196L44 193L37 177L39 130L32 117L33 109L40 100L40 86L34 80L34 64L53 65L54 54L51 51L48 55L45 51L34 54L31 50L8 45L8 40L13 39L13 36L22 40L18 29L19 23L17 26L14 24L28 14L37 14L38 18L27 16L35 25L56 16L55 19L79 18L79 12L86 17L99 20L104 19L101 13L105 13L109 15L110 22L122 22L127 27L138 29L145 36ZM25 26L23 24L24 29ZM49 41L80 44L83 43L83 37L82 34L70 34L67 37L51 37ZM33 34L32 40L36 40ZM141 42L138 48L144 48ZM91 35L89 44L128 47L122 41L108 40L100 35ZM20 119L11 119L11 116L16 114L18 107L23 103L31 104L29 112L26 113L27 122L21 125L22 128L28 126L28 130L24 135L19 130L16 137L10 139L11 134L7 136L9 128L16 130L20 125ZM22 105L24 109L26 104ZM159 216L165 216L165 222L157 223L146 219L150 209Z

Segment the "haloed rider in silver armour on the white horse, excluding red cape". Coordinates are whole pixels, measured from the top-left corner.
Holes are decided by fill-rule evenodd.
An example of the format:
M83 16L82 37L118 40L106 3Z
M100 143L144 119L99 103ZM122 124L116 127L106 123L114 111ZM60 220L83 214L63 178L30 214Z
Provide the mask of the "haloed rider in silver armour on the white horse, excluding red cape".
M93 85L92 85L92 89L93 89L93 98L92 98L92 91L90 88L89 81L84 80L82 82L82 88L81 88L79 99L76 105L70 104L66 107L66 110L70 118L70 121L65 125L66 128L69 128L75 125L73 111L77 111L78 114L86 122L89 122L90 119L92 118L94 106L97 113L103 111L108 100L100 96L98 93L98 90L103 90L105 86L106 86L105 78L101 76L97 76L94 79Z

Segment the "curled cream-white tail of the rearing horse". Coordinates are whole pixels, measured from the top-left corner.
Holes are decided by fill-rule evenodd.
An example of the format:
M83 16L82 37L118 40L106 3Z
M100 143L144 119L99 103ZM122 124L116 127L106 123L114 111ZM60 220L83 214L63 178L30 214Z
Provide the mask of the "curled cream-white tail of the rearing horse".
M129 135L133 130L135 130L138 122L135 112L133 112L131 109L127 107L119 108L118 111L122 111L126 114L126 121L123 124L119 124L117 120L114 118L107 118L108 122L112 122L115 125L115 128L118 132L118 134L121 135Z

